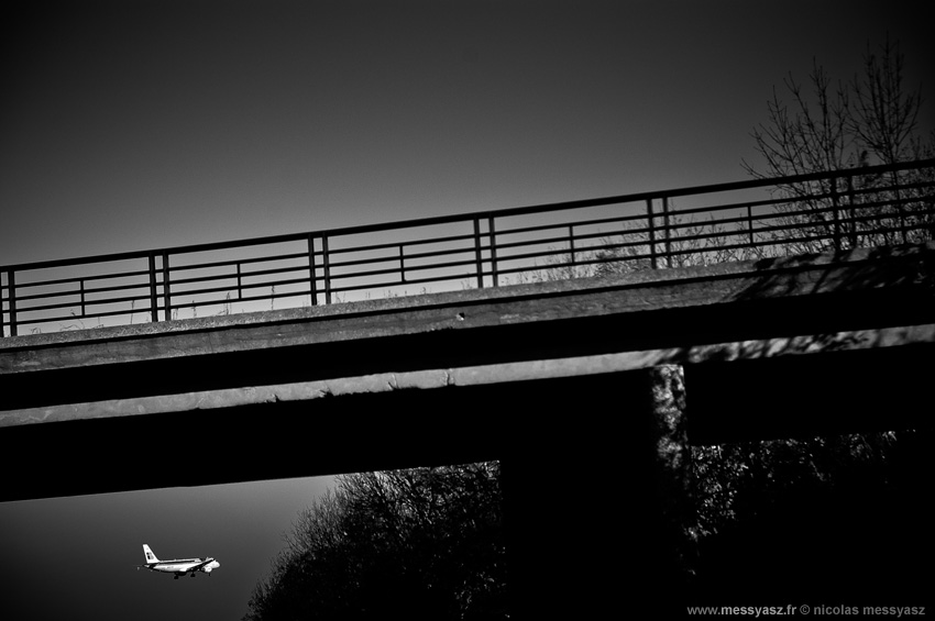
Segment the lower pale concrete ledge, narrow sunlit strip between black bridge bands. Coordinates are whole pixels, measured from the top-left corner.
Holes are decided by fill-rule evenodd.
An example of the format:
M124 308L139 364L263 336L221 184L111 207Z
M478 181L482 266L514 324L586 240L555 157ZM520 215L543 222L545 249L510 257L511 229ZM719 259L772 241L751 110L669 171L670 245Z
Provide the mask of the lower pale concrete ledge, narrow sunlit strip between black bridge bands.
M935 344L935 324L835 334L799 335L689 347L617 352L449 368L384 372L309 381L257 384L231 388L72 401L0 411L0 428L40 422L193 412L408 389L439 389L630 372L660 365L757 361L829 352L856 352ZM61 390L61 388L59 388ZM163 393L164 392L164 393Z

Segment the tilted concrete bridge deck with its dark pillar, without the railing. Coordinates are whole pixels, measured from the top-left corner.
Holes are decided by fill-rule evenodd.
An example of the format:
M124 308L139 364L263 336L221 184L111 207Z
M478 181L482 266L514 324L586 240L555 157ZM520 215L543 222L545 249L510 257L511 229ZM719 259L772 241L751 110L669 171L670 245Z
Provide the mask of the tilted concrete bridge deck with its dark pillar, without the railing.
M519 601L620 610L684 579L691 444L931 440L933 256L7 339L2 500L499 459Z

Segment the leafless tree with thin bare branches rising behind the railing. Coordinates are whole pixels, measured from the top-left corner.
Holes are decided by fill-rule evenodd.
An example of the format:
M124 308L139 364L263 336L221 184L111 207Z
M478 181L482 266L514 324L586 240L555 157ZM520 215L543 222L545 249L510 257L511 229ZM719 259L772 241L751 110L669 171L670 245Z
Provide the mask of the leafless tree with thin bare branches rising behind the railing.
M766 168L741 165L762 179L932 157L935 135L926 143L917 134L921 88L906 88L904 69L899 45L887 40L879 54L868 45L862 74L847 84L834 85L817 62L811 92L788 76L791 102L774 90L768 121L751 134ZM868 173L778 186L774 196L789 200L777 206L773 241L787 254L801 254L931 240L931 215L921 206L932 192L916 188L920 175Z

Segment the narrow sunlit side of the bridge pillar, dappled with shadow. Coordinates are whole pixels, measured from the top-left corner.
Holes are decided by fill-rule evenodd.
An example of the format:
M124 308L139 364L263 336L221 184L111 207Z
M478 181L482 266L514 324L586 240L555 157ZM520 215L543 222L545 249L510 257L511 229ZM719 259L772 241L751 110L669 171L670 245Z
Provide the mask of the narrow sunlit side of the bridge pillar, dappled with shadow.
M695 507L692 452L685 417L685 373L681 365L652 367L648 372L650 425L654 445L654 496L661 515L659 535L670 551L667 566L673 580L691 576L694 545L689 531Z

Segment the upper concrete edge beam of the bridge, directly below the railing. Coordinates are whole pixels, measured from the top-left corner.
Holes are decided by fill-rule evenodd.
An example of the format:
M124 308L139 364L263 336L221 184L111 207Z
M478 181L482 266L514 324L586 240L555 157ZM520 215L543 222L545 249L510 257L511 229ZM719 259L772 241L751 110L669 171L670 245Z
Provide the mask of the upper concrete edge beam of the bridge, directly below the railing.
M723 306L761 311L766 307L756 302L803 299L815 319L828 309L814 302L838 301L829 307L838 308L857 299L931 319L925 311L935 303L933 265L935 244L930 243L23 335L0 339L0 375ZM837 330L854 328L849 317L866 314L850 311L835 318ZM789 318L747 318L777 319L789 323ZM920 321L901 324L914 323ZM695 341L705 340L704 330L696 326Z

